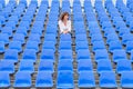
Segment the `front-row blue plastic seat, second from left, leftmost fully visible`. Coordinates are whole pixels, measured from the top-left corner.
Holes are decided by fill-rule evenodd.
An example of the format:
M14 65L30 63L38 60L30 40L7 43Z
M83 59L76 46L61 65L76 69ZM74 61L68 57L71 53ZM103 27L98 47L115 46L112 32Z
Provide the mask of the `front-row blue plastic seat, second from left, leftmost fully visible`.
M23 72L23 71L17 72L13 87L17 87L17 88L31 87L31 75L30 75L30 72Z

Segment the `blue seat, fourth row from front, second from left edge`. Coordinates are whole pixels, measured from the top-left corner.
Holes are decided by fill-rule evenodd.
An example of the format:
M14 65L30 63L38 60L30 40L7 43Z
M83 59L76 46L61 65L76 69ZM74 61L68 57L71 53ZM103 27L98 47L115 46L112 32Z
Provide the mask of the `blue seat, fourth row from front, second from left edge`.
M12 41L9 43L9 49L14 49L18 50L18 52L22 51L22 47L21 47L21 42L20 41Z

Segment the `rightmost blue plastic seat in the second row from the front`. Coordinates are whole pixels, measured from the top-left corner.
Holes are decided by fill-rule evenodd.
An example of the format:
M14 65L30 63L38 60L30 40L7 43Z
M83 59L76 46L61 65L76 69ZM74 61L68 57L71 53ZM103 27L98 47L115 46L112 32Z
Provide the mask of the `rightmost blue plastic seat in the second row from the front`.
M123 71L132 71L132 66L130 60L120 60L116 65L116 72L122 73Z

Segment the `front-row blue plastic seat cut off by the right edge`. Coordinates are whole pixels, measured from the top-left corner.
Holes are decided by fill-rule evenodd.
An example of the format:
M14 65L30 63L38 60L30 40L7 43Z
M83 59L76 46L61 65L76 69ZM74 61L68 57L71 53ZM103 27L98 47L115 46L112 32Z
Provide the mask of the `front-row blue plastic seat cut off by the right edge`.
M133 71L123 71L121 73L121 87L133 88Z

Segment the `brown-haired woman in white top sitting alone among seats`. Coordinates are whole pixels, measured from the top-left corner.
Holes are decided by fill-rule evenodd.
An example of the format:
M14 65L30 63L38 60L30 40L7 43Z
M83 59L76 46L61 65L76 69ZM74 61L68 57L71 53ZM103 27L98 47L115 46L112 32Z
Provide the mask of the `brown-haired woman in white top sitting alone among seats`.
M71 32L71 21L69 20L69 13L63 12L59 20L60 33L70 33Z

